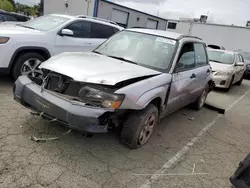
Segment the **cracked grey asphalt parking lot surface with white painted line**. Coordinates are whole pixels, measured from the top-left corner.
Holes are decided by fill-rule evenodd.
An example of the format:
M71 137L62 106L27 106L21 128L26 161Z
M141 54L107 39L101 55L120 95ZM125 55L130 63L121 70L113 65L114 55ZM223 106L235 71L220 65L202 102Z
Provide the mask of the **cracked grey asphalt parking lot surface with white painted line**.
M130 150L116 133L72 131L32 141L32 135L55 137L68 129L14 102L12 82L1 77L0 187L230 187L229 176L250 151L249 86L244 81L229 93L212 93L209 100L228 108L225 115L182 109L161 121L147 145Z

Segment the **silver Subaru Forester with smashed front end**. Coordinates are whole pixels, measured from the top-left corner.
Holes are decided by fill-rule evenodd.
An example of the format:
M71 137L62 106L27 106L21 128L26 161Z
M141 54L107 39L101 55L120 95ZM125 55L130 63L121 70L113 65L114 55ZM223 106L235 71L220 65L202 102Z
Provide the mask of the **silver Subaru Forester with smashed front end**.
M143 146L160 118L213 88L204 42L192 36L125 29L92 52L62 53L42 63L42 80L20 76L14 99L23 106L88 133L119 128L131 148Z

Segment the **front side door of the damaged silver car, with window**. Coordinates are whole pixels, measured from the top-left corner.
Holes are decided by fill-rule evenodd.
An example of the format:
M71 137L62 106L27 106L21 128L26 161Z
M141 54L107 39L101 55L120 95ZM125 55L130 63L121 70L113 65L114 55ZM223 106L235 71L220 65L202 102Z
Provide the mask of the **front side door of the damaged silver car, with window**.
M194 43L188 42L182 46L178 57L165 114L190 103L196 77Z

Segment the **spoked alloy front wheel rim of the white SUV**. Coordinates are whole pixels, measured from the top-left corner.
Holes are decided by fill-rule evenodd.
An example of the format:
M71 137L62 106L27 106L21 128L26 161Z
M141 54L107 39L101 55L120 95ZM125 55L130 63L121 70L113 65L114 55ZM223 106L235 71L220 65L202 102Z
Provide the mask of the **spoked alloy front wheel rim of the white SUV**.
M27 75L30 77L42 78L43 72L38 66L41 61L36 58L28 59L25 61L21 67L21 75Z

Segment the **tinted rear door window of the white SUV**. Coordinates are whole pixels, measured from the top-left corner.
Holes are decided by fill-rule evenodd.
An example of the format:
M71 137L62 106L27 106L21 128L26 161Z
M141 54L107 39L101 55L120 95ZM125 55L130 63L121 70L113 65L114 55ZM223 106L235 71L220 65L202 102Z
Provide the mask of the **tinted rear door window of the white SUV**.
M114 34L113 27L91 23L91 38L109 38Z

